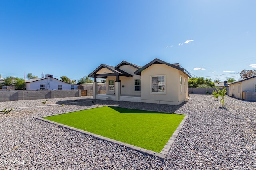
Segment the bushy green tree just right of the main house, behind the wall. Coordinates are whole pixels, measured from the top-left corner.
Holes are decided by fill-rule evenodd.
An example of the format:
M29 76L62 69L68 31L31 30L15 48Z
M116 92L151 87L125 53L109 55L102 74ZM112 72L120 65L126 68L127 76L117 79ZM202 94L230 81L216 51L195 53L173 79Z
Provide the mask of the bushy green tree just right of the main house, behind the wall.
M211 79L204 79L204 77L193 77L188 80L189 87L215 87L214 82Z

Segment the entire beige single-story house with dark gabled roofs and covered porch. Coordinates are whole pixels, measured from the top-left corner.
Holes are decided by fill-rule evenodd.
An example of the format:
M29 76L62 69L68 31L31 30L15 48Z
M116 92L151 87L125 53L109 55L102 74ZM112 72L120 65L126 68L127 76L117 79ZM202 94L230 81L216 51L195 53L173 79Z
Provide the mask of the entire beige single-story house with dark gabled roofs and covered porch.
M101 64L89 77L94 78L94 99L179 105L189 98L192 76L179 63L154 59L142 67L127 61L115 67ZM106 94L97 94L97 78L106 78Z

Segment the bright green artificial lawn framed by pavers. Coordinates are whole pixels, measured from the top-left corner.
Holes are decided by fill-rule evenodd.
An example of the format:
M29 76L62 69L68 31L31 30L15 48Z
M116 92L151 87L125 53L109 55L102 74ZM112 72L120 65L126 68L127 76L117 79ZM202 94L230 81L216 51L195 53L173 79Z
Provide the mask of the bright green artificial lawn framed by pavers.
M44 119L161 152L184 117L185 115L106 106Z

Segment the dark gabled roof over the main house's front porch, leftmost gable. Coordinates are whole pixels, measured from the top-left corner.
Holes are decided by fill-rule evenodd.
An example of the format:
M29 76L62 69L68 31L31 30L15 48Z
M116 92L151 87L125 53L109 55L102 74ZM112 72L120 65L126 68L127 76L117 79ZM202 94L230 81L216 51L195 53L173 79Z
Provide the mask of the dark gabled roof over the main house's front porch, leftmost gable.
M107 68L108 70L112 71L113 73L106 73L106 74L96 74L98 71L100 71L102 68ZM100 66L98 66L98 68L96 68L93 72L91 72L89 75L89 77L98 77L98 78L107 78L107 76L126 76L126 77L132 77L131 74L120 70L119 68L113 67L113 66L109 66L106 64L101 64Z

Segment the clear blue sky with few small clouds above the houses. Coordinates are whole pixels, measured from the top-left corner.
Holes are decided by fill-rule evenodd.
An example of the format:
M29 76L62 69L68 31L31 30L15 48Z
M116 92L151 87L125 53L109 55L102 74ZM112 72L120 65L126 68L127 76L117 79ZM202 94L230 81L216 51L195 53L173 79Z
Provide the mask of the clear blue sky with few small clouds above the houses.
M237 80L256 69L255 9L255 0L1 0L0 74L75 80L102 63L158 58Z

